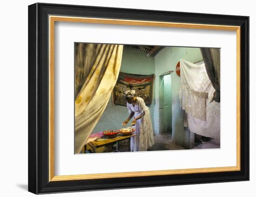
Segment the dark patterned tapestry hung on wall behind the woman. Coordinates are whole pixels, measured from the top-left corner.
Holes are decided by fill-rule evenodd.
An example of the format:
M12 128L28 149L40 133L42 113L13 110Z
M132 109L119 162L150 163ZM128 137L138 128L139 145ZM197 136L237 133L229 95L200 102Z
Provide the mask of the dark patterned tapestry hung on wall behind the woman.
M119 73L117 82L113 92L113 100L115 104L126 106L124 92L134 89L135 96L144 99L146 105L152 103L153 84L155 75L132 75L127 73Z

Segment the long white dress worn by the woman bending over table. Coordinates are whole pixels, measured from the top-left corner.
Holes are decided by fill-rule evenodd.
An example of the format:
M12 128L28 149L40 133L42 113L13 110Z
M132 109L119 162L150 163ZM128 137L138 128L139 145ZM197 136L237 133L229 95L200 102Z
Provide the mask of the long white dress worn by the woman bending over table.
M135 106L127 102L127 108L129 114L135 112L134 118L142 114L142 117L136 121L135 135L131 138L131 151L147 151L148 147L154 145L154 134L151 123L149 108L145 105L144 100L141 97L136 97ZM145 114L143 115L143 113Z

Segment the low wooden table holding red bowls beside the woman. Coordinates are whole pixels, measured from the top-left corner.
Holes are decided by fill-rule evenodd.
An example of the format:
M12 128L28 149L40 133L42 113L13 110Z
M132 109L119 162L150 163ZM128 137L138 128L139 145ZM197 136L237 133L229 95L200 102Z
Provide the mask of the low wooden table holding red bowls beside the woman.
M136 134L131 134L131 135L118 135L119 137L115 137L115 138L110 138L108 140L103 140L103 141L91 141L88 143L89 146L91 146L93 148L93 153L96 153L95 149L102 147L102 146L106 146L109 144L115 144L116 143L116 150L114 152L119 152L118 151L118 142L122 141L122 140L129 140L128 143L128 151L130 152L130 144L131 144L131 137L135 136ZM87 145L87 144L86 144ZM86 151L86 145L84 150Z

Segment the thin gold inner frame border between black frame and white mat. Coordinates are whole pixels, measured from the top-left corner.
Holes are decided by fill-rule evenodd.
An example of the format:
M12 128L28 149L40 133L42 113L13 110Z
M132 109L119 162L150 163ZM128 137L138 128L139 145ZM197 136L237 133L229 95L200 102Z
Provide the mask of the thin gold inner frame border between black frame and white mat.
M236 31L236 166L55 176L54 175L54 22L56 21ZM240 150L240 142L241 142L240 141L241 140L240 139L240 117L241 117L240 38L241 38L240 26L205 25L205 24L191 24L191 23L124 20L124 19L99 19L99 18L83 18L83 17L67 17L67 16L49 15L49 40L48 40L49 41L49 65L48 65L49 66L49 181L70 181L70 180L99 179L99 178L124 178L124 177L157 176L157 175L240 171L241 169L241 164L240 164L240 152L241 152Z

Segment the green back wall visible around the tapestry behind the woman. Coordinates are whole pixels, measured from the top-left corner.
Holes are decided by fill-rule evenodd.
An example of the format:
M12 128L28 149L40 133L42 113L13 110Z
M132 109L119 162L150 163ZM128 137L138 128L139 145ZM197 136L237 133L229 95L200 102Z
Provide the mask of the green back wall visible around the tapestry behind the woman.
M146 52L134 51L124 47L121 62L121 72L138 75L154 74L154 58L146 57ZM153 95L154 94L155 90L153 90ZM152 123L154 122L154 103L155 99L153 96L152 104L148 105L151 112ZM128 115L127 107L120 105L113 106L112 98L110 97L107 108L103 112L100 121L94 127L93 133L108 129L120 129L122 127L122 122L128 118Z

